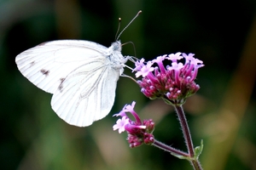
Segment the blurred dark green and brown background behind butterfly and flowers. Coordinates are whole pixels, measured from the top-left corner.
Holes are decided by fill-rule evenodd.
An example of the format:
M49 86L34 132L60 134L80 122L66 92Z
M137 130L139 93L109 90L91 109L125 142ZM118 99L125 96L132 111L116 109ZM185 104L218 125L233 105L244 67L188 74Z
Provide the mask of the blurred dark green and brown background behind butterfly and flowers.
M255 0L1 0L1 169L192 169L148 145L130 149L126 134L113 132L112 115L135 100L142 118L154 118L155 138L186 151L172 107L146 99L130 79L120 77L111 113L81 128L56 116L51 94L15 65L17 54L41 42L83 39L109 47L118 18L124 28L139 10L120 37L135 44L137 58L183 52L204 61L201 89L184 105L195 146L204 140L204 169L256 169L255 7ZM134 55L132 45L122 54Z

